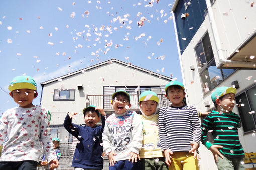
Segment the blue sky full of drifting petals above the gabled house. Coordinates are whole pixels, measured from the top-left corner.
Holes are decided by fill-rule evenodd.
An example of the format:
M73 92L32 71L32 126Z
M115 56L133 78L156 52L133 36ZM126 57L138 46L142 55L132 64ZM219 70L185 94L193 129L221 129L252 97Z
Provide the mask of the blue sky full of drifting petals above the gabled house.
M15 76L32 76L41 94L41 82L111 58L182 81L173 1L1 1L0 113L17 106L8 95Z

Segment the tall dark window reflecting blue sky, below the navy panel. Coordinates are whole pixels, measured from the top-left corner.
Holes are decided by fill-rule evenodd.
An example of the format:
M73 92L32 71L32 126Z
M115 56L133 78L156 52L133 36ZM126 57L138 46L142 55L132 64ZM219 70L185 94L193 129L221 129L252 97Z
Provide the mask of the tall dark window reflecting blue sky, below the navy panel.
M235 71L235 69L218 69L216 67L208 32L195 47L195 53L204 94Z

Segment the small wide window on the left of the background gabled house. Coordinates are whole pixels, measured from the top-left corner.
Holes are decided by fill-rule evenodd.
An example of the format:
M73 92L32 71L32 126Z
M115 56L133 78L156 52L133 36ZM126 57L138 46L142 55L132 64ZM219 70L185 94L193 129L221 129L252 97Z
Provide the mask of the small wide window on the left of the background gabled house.
M75 90L54 90L53 101L74 101Z

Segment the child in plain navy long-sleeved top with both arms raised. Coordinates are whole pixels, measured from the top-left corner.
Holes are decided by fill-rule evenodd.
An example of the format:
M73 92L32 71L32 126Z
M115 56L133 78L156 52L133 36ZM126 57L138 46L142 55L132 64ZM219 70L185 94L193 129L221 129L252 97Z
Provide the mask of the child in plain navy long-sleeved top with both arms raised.
M72 123L72 119L77 113L68 112L64 127L78 139L76 145L72 167L75 169L103 169L102 132L105 126L106 113L102 108L90 105L83 109L84 122L86 126L79 126ZM101 126L96 124L102 121Z

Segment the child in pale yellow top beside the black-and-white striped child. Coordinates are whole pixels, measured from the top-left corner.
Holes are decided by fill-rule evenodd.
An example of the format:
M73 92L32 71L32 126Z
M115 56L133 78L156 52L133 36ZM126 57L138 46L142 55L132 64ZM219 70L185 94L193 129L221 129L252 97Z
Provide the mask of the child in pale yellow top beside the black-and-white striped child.
M142 169L167 170L165 155L161 151L158 136L158 114L156 109L159 99L153 91L144 91L139 98L139 108L142 113L143 140L140 158Z

